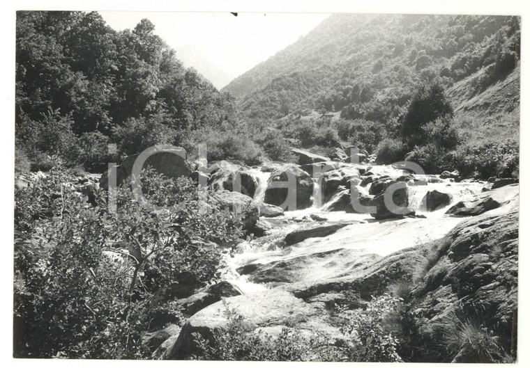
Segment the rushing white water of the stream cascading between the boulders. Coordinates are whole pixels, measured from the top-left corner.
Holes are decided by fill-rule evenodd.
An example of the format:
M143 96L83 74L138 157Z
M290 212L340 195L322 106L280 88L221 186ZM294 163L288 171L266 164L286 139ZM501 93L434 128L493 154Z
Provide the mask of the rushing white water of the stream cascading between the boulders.
M396 178L406 172L391 166L367 166L374 175L388 175ZM248 170L257 180L254 201L264 201L270 172L257 168ZM301 280L333 278L344 273L345 262L357 262L357 259L385 257L395 251L416 246L427 241L439 239L464 218L446 216L448 206L427 212L425 195L428 191L447 193L450 205L458 200L471 198L480 193L484 186L481 182L451 182L432 175L415 175L427 185L407 183L409 208L425 218L402 218L377 221L370 214L347 214L345 211L324 211L321 193L321 177L314 179L313 206L308 209L286 211L279 218L262 218L271 224L265 237L248 239L239 244L235 254L225 255L227 267L223 278L238 286L244 293L264 291L273 285L251 282L252 276L240 275L237 269L254 264L260 267L273 267L278 262L296 264ZM361 188L361 191L368 188ZM365 193L367 194L367 193ZM335 198L336 199L336 198ZM333 198L332 198L333 200ZM327 204L326 204L327 205ZM348 223L327 237L305 239L292 246L285 246L283 239L294 230L317 225L319 218L323 223ZM317 221L315 221L315 218ZM328 252L328 253L326 253ZM309 260L308 260L309 259ZM291 262L291 263L289 263ZM293 263L294 262L294 263ZM361 261L359 261L361 262ZM288 266L286 272L289 272Z

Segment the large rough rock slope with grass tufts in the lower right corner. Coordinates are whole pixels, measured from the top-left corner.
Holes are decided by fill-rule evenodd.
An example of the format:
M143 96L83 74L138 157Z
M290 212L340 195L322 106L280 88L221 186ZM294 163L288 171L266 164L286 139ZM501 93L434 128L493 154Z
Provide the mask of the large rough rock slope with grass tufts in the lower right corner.
M409 301L416 360L491 362L517 346L518 215L471 218L432 249Z

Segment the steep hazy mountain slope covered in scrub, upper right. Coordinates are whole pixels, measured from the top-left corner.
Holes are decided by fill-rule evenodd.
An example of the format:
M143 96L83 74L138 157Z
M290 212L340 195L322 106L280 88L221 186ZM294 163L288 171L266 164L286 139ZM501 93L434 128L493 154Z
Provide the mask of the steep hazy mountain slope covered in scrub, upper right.
M517 113L519 53L518 17L336 14L223 91L248 118L309 108L387 122L438 79L457 113L487 118Z

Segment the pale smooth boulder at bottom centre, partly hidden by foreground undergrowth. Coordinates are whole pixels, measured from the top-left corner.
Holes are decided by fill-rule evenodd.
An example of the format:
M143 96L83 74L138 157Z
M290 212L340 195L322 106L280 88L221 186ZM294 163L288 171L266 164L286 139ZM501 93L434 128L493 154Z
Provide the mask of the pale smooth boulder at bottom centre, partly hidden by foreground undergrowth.
M277 336L282 327L296 326L304 335L319 332L330 338L343 338L324 303L305 303L287 291L273 289L226 298L197 312L185 323L179 337L162 358L185 360L194 354L200 355L195 336L200 334L203 339L213 341L215 331L227 326L226 308L234 307L255 333L262 331Z

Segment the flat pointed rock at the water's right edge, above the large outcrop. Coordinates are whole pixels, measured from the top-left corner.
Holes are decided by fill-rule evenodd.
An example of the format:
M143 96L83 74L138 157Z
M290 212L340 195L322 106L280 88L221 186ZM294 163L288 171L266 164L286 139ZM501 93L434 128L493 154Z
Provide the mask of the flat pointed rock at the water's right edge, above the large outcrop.
M486 211L506 205L515 198L518 198L519 185L510 184L499 189L487 191L475 195L469 200L461 200L450 207L446 214L456 216L477 216Z

